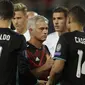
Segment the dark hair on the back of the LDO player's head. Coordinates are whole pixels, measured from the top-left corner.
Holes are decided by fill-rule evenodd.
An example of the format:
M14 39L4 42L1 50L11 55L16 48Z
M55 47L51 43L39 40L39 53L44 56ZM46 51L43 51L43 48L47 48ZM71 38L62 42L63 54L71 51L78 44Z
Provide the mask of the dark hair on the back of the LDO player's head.
M10 0L0 0L0 18L11 19L14 15L14 6Z

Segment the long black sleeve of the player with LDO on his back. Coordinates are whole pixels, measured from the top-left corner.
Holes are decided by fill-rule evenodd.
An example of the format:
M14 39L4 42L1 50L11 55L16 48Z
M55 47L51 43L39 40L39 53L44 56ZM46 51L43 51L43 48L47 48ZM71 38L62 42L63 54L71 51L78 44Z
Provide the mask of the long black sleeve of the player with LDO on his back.
M29 69L29 62L26 59L26 41L21 36L20 49L18 51L18 73L20 85L35 85L37 83L36 77Z

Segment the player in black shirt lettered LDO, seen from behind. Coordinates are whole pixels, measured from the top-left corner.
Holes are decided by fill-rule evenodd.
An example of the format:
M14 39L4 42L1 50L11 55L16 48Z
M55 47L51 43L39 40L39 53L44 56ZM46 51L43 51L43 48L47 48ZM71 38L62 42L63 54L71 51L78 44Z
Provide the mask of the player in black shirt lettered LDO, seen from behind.
M26 41L9 29L14 15L13 4L9 0L0 1L0 85L16 85L16 70L26 80L22 85L34 85L37 79L29 70L25 59ZM31 82L31 79L33 80Z

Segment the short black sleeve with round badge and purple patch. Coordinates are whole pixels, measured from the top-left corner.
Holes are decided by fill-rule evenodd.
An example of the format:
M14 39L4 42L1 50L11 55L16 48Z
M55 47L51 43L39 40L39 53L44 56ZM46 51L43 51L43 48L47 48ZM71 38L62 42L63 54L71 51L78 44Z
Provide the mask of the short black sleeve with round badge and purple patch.
M56 45L56 50L53 59L65 60L67 58L68 43L66 42L65 36L60 36L59 41Z

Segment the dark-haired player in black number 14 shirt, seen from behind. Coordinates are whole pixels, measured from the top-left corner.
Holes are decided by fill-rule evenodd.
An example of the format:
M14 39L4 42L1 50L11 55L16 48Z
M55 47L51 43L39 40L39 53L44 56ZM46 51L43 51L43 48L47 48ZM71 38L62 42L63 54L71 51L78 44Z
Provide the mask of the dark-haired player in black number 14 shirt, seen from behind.
M53 85L54 75L63 69L60 85L85 85L85 11L80 6L69 10L67 27L68 33L60 36L54 59L55 63L50 72L46 85Z

